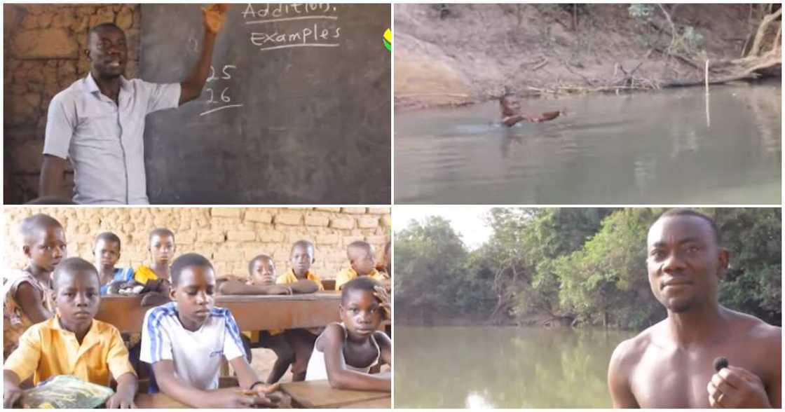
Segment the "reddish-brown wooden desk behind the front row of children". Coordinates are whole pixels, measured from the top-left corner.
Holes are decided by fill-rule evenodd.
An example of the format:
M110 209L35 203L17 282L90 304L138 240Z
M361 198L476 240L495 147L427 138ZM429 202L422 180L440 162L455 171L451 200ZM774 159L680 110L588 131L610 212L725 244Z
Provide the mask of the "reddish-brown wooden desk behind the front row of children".
M96 319L115 325L120 332L141 332L144 314L138 296L101 297ZM292 329L340 322L341 294L317 292L301 295L216 297L215 305L228 308L240 330Z

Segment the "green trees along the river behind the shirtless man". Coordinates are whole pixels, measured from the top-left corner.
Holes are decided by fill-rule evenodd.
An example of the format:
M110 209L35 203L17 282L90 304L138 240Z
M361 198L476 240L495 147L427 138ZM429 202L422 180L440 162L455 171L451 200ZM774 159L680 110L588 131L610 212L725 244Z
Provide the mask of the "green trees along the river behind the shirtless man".
M468 252L444 219L396 233L396 317L476 314L493 322L550 316L642 329L665 317L646 272L660 209L493 209L491 238ZM731 252L720 301L780 325L779 209L704 209Z

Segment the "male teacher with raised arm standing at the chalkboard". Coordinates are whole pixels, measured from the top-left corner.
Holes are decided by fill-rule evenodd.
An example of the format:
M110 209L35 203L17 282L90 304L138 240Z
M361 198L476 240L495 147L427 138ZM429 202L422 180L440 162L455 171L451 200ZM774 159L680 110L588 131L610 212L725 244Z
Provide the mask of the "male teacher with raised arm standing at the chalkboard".
M49 103L39 196L59 195L68 160L75 171L74 202L147 204L144 118L194 100L210 73L210 60L227 5L203 9L204 46L192 73L181 83L155 84L122 76L128 47L112 23L87 34L89 74Z

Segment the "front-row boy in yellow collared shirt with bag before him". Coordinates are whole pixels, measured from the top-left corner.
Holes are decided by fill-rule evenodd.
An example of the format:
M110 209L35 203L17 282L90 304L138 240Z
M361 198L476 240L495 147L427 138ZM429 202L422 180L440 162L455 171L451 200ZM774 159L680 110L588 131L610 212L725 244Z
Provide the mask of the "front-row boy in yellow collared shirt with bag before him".
M114 377L117 392L106 406L135 407L137 375L120 332L93 319L100 303L96 268L79 257L65 259L55 268L52 283L57 315L27 329L3 365L5 407L13 407L20 399L20 382L31 375L37 385L65 374L104 386Z

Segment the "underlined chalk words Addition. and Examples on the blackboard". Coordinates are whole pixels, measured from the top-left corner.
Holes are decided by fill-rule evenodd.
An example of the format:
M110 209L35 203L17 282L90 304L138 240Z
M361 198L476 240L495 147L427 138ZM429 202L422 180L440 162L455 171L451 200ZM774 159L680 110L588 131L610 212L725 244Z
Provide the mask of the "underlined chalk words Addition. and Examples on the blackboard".
M250 42L261 51L289 49L292 47L338 47L341 27L338 26L338 5L319 4L274 4L262 5L258 9L247 5L243 11L246 24L262 25L263 30L253 31ZM297 20L319 20L307 25L285 28L276 23Z

